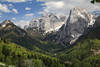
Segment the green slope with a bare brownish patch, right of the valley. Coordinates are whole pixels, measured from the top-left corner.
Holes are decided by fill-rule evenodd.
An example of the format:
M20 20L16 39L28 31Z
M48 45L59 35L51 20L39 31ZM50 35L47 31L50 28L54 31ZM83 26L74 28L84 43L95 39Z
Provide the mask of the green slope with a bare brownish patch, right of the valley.
M68 67L100 67L100 28L81 37L75 46L58 53Z

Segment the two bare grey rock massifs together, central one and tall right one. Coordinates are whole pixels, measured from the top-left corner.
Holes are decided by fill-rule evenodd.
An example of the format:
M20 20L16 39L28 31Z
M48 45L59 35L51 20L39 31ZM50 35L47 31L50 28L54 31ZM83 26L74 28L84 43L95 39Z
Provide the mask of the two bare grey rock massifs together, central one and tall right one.
M57 16L54 14L46 14L40 18L33 19L29 26L26 26L27 31L50 33L46 36L62 45L73 44L80 36L85 35L91 28L94 27L96 16L89 13L83 8L73 8L70 10L68 19L66 16ZM52 32L55 34L52 34Z

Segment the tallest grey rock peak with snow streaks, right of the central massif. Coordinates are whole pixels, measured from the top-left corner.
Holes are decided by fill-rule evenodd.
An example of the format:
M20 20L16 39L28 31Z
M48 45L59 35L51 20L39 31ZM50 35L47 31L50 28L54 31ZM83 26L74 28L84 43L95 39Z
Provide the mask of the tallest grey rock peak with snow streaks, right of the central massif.
M94 15L85 9L72 9L68 20L57 32L56 41L63 45L73 44L81 35L86 34L89 28L93 27L94 18Z

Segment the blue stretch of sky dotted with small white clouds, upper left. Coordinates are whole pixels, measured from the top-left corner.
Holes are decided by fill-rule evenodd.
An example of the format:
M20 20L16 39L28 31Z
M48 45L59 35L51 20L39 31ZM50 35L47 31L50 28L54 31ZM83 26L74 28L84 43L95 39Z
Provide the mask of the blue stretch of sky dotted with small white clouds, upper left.
M37 2L36 0L33 1L27 1L27 2L9 2L8 1L2 1L1 5L6 5L5 9L8 12L3 11L1 9L0 14L0 21L3 21L5 19L10 20L31 20L33 17L40 16L38 12L43 11L43 8L45 6L41 5L44 2ZM2 6L3 7L3 6Z

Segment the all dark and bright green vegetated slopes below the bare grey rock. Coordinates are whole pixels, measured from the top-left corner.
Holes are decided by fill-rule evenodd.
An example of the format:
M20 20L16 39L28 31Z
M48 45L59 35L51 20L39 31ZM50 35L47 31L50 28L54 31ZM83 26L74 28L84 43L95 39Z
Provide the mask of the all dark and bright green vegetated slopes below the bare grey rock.
M100 27L69 48L38 35L16 26L0 28L0 67L100 67Z

